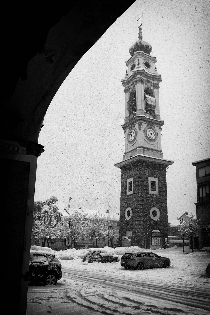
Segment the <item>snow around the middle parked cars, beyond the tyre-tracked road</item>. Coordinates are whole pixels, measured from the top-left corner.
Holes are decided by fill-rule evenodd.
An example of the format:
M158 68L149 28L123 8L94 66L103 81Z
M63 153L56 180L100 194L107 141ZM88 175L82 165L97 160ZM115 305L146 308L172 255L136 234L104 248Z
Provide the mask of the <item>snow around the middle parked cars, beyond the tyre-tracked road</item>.
M75 270L83 270L84 272L87 270L106 273L109 274L118 274L120 271L120 275L128 275L129 278L136 277L135 270L125 270L124 267L121 267L120 261L113 263L100 263L93 262L92 264L87 261L83 262L82 258L88 253L89 249L67 249L65 251L56 252L55 255L57 258L61 260L62 267L75 268ZM108 252L112 255L118 255L119 259L121 259L122 255L125 252L137 252L137 251L151 251L160 256L167 257L171 261L171 266L167 269L145 269L141 271L141 280L156 280L158 283L169 283L169 284L190 284L195 286L209 286L210 287L210 278L206 277L205 269L210 262L210 252L201 252L196 251L191 253L189 250L189 246L185 247L186 252L190 252L188 254L182 253L182 248L177 248L174 246L168 249L141 249L138 246L131 247L117 247L115 249L110 247L104 248L95 248L92 250L100 250L104 252ZM60 280L62 281L62 279Z

